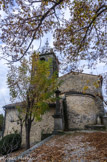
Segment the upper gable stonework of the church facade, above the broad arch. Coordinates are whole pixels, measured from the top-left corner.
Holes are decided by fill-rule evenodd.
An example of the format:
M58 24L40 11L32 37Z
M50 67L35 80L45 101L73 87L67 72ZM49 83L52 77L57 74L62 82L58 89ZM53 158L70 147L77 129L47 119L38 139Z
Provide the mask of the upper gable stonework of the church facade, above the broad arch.
M100 93L102 95L101 81L98 75L89 75L84 73L69 73L59 78L62 80L60 91L62 93L68 91L83 92L84 87L86 93ZM96 84L99 83L99 87L96 88Z

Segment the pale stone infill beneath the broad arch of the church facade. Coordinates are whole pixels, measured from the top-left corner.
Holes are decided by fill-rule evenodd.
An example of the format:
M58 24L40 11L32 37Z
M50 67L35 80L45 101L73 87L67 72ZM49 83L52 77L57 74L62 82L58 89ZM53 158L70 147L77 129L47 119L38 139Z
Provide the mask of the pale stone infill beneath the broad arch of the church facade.
M96 124L98 108L89 96L67 96L68 127L84 129L87 124Z

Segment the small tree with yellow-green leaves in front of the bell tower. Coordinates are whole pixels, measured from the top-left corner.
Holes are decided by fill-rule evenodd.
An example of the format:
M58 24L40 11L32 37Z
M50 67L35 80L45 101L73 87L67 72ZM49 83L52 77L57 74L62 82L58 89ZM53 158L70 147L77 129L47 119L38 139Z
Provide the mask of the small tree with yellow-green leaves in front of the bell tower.
M26 149L30 147L30 130L33 120L39 120L54 100L54 91L58 86L57 75L50 76L52 61L40 61L33 53L30 61L25 58L19 67L11 65L8 73L8 86L12 101L22 101L20 111L24 114L26 129Z

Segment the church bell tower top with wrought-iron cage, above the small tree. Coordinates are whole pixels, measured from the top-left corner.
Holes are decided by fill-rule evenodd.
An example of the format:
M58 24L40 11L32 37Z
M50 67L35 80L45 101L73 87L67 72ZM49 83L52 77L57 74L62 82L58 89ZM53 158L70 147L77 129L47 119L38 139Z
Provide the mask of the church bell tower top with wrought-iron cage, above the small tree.
M59 61L58 61L53 49L49 47L48 40L46 41L45 46L42 48L42 52L41 52L41 54L39 54L39 58L40 58L40 60L43 60L43 61L48 61L51 58L52 65L50 67L50 73L52 75L54 72L57 72L57 75L58 75Z

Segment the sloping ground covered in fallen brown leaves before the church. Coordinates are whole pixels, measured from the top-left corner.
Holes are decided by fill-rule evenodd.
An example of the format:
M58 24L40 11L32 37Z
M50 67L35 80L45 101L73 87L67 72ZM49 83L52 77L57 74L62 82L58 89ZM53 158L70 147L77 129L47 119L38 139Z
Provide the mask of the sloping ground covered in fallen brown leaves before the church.
M107 162L107 132L67 132L56 135L19 161Z

